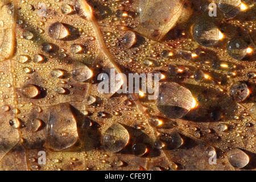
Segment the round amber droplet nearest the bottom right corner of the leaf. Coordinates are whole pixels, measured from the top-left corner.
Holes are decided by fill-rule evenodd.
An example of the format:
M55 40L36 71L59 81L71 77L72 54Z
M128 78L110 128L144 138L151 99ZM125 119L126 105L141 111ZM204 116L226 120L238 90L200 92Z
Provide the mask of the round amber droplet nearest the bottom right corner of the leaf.
M239 148L235 148L228 152L228 160L229 163L235 168L243 168L250 161L249 156Z

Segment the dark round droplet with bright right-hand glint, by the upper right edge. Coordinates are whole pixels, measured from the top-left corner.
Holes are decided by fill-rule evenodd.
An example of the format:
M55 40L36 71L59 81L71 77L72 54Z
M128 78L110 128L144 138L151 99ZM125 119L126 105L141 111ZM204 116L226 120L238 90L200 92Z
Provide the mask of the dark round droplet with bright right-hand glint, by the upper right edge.
M247 43L241 38L229 40L226 50L230 57L241 60L246 56Z

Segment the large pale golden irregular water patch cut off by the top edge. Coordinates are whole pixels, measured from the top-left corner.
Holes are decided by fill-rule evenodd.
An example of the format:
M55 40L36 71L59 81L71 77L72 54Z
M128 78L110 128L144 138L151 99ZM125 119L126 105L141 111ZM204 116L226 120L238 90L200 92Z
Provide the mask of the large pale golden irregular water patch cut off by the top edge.
M162 39L178 22L191 13L189 1L139 0L134 3L138 9L137 31L151 39Z

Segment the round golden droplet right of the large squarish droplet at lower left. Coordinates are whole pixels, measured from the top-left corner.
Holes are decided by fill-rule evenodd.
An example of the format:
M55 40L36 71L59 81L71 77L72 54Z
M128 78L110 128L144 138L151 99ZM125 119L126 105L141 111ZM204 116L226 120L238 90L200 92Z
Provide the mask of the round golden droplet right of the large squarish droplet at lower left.
M103 146L111 152L121 151L129 142L128 131L120 124L111 125L104 133Z

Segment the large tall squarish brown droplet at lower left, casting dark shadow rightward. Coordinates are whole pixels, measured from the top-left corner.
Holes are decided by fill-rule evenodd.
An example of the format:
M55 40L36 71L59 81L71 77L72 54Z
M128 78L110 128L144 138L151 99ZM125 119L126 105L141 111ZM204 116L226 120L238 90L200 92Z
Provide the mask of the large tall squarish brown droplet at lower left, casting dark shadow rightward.
M78 139L77 124L71 106L67 103L49 108L46 147L64 150L72 147Z

